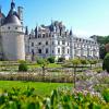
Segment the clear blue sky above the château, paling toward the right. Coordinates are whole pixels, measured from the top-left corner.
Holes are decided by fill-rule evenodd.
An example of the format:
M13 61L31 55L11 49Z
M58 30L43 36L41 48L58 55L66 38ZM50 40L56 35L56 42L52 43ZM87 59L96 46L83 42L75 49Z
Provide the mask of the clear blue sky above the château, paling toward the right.
M109 0L14 0L24 8L24 25L29 29L38 24L62 21L76 35L109 35ZM7 15L11 0L0 0Z

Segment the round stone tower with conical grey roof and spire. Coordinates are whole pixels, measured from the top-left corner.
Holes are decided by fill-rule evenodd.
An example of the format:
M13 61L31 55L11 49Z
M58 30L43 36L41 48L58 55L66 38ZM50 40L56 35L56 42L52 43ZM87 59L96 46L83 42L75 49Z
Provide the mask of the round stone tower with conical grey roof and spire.
M25 60L23 25L13 1L11 2L9 14L1 26L1 39L4 60Z

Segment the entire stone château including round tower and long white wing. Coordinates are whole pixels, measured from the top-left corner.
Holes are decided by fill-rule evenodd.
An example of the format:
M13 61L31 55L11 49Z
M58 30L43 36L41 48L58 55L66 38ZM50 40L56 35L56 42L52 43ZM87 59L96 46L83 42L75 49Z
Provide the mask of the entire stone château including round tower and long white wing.
M31 33L26 27L24 33L22 7L16 12L12 0L7 16L0 9L0 59L25 60L25 56L31 56L32 60L36 57L98 59L99 46L96 36L77 37L58 21L36 26Z

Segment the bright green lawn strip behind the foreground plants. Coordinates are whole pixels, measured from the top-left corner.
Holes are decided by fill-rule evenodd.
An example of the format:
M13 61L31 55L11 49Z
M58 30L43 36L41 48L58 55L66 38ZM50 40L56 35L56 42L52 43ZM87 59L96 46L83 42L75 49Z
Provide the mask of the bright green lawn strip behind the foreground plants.
M25 89L27 87L34 87L37 95L47 96L50 95L52 89L58 87L68 86L72 87L72 84L68 83L43 83L43 82L21 82L21 81L0 81L0 88L11 89L12 87L19 87Z

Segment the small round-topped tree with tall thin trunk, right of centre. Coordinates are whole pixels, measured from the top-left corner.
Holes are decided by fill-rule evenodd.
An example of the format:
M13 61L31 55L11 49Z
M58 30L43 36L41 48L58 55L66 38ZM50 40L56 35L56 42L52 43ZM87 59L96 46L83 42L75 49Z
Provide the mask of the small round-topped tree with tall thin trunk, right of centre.
M73 59L72 60L73 68L74 68L74 88L76 88L75 82L76 82L76 68L81 64L80 59Z

